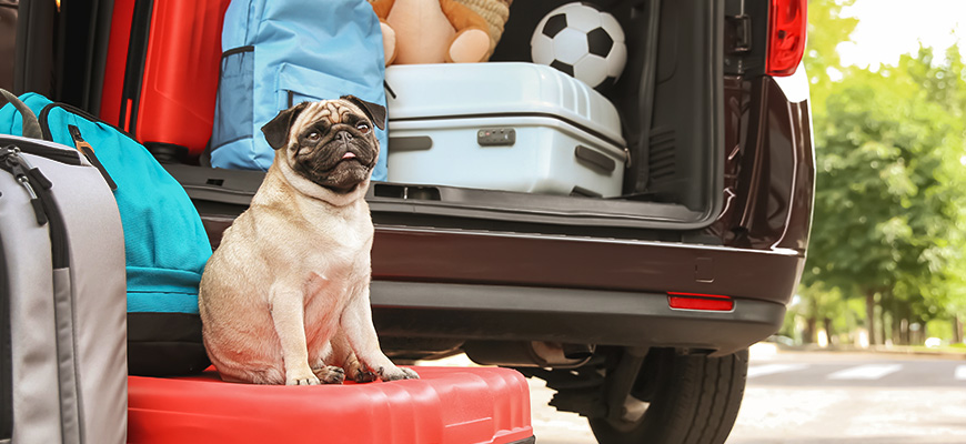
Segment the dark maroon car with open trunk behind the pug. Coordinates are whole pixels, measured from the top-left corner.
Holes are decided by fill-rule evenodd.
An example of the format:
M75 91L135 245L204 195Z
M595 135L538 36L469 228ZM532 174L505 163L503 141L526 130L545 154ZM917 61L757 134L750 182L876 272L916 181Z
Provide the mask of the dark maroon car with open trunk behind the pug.
M514 2L492 60L525 60L533 26L565 2ZM109 30L87 27L110 4L21 1L16 92L97 110ZM806 1L596 4L627 34L604 91L628 141L625 195L374 183L373 320L396 359L465 352L546 380L602 443L723 443L746 349L778 330L805 263ZM263 173L167 160L217 248Z

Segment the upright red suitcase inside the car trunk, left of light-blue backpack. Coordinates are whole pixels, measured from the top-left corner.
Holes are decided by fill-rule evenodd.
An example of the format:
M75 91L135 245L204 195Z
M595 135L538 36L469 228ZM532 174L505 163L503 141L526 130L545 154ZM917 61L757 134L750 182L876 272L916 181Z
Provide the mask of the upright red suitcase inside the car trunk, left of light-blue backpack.
M115 0L100 118L159 158L211 138L229 0Z

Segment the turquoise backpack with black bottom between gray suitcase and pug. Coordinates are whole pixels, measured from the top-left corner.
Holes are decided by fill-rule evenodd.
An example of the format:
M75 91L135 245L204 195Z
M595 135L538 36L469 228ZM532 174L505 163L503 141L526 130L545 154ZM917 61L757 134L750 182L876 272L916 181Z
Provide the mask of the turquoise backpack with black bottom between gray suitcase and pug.
M140 143L114 127L43 95L20 97L43 139L76 147L114 192L124 229L128 371L139 375L204 370L198 284L211 244L184 189ZM22 118L0 109L0 133L21 135Z

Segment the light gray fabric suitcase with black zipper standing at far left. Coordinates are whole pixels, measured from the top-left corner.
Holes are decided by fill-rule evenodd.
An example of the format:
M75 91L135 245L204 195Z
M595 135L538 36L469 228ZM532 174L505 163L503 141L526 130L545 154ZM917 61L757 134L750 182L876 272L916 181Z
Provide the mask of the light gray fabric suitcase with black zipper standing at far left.
M0 135L0 444L120 444L121 218L98 169L29 117L33 138Z

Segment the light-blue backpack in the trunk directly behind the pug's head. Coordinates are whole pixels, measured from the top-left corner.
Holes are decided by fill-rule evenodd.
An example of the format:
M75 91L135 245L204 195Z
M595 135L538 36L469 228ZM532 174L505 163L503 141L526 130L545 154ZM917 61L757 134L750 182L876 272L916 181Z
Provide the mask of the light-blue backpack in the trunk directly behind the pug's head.
M266 171L261 128L303 101L351 94L385 107L379 18L366 0L234 0L224 16L211 165ZM386 135L376 130L386 179Z

